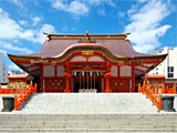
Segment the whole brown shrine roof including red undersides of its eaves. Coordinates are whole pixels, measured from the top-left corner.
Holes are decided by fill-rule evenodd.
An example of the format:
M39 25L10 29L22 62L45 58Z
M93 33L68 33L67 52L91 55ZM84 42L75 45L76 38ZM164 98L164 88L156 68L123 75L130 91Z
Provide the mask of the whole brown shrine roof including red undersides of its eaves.
M136 52L127 34L48 34L43 47L37 53L12 55L9 58L33 76L40 76L41 66L37 63L66 62L74 53L81 51L100 51L113 62L139 62L135 75L142 76L158 65L167 54L146 54ZM74 53L75 54L75 53ZM70 57L70 58L69 58ZM105 58L104 57L104 58ZM144 63L144 61L146 63ZM30 63L29 63L30 62ZM148 63L147 63L148 62ZM117 64L117 63L116 63Z

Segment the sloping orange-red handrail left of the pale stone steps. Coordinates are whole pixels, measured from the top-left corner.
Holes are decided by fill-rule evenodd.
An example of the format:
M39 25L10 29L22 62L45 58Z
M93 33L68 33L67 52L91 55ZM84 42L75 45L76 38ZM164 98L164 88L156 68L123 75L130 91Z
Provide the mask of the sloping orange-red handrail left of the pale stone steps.
M37 85L32 86L32 84L30 84L30 86L27 88L21 95L19 95L18 98L14 98L14 111L18 111L20 105L27 100L27 98L31 93L37 93Z

